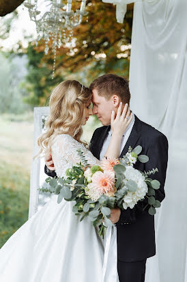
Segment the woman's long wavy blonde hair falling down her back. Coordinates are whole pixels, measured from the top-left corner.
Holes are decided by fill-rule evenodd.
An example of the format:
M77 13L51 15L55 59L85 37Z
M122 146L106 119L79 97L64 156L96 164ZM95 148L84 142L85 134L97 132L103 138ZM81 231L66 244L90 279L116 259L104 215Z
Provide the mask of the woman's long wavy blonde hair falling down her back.
M72 133L74 139L81 141L85 105L91 102L92 92L76 80L61 82L49 99L50 113L46 121L46 132L38 138L41 153L51 153L55 136L62 133ZM35 155L37 157L38 155ZM34 157L34 158L35 158Z

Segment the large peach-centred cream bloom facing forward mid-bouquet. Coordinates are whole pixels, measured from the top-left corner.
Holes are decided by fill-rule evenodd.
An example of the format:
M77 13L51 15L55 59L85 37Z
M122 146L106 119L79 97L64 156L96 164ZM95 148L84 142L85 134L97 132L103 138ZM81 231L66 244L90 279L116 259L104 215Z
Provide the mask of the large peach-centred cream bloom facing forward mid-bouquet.
M97 171L92 177L92 185L101 194L106 194L114 189L115 175L111 171Z

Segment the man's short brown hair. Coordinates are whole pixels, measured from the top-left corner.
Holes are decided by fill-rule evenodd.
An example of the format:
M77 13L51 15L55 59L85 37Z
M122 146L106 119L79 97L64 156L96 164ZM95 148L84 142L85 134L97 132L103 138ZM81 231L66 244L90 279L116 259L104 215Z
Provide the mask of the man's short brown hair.
M89 86L91 90L96 89L98 95L104 97L106 100L111 99L113 94L121 98L123 103L130 103L130 90L128 86L128 79L119 77L111 73L102 75L93 80Z

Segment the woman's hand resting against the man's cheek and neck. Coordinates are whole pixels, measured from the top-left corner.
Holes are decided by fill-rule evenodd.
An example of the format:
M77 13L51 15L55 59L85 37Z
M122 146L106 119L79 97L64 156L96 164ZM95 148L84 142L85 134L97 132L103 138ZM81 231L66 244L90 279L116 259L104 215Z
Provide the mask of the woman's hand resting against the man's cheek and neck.
M114 111L111 114L111 129L113 134L122 136L126 131L128 125L130 125L131 120L132 114L130 114L128 104L126 104L124 106L124 110L122 110L122 103L120 103L117 109L116 116Z

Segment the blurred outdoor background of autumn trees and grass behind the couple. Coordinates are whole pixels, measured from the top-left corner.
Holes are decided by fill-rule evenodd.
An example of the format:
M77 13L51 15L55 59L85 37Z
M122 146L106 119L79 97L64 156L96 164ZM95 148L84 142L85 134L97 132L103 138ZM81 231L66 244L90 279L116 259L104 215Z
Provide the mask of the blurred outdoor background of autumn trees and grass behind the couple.
M114 5L87 1L88 21L85 18L74 29L72 51L65 46L57 49L51 79L53 53L44 55L44 42L36 47L27 27L22 39L17 36L14 44L8 41L18 34L16 22L22 21L23 4L16 8L22 1L13 2L16 6L10 9L7 1L0 1L0 247L28 219L33 107L47 105L51 90L64 79L89 86L104 73L128 77L133 16L130 4L124 23L119 24ZM99 125L96 117L88 121L84 129L87 141Z

